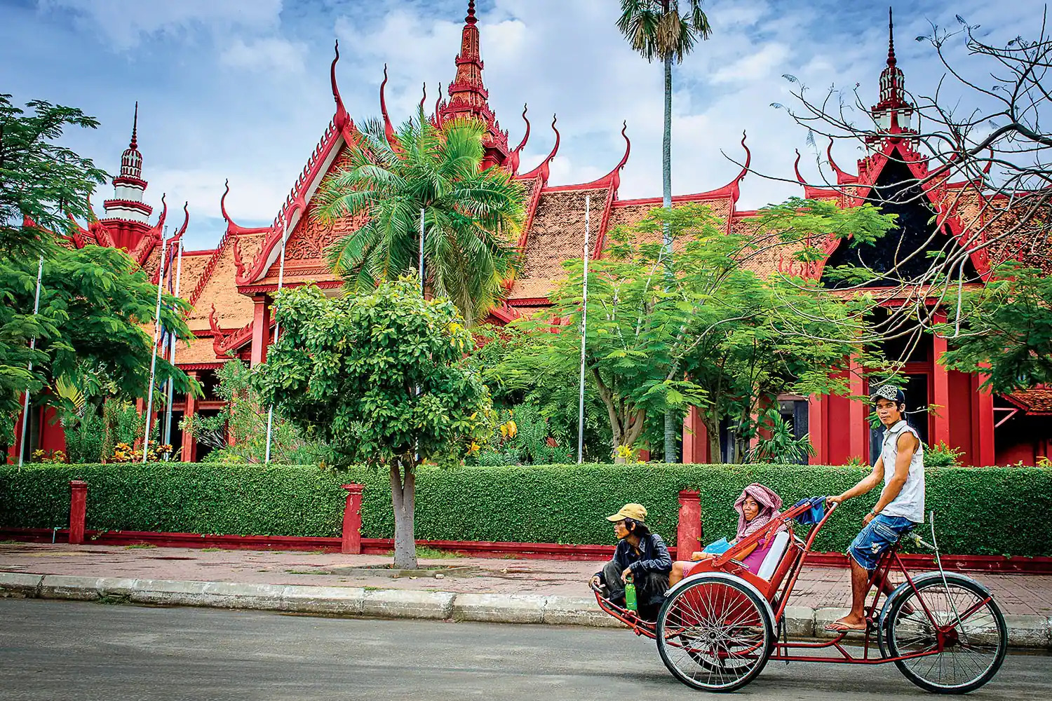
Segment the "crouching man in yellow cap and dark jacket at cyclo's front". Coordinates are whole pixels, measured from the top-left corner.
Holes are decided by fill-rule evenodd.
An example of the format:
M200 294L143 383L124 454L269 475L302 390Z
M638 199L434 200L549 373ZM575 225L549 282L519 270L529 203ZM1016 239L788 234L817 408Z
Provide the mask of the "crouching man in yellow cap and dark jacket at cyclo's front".
M665 600L672 558L662 537L647 528L646 518L647 510L639 503L626 503L616 514L606 517L613 522L618 547L613 559L592 577L592 584L605 586L606 598L621 603L625 598L625 582L631 575L640 616L654 620Z

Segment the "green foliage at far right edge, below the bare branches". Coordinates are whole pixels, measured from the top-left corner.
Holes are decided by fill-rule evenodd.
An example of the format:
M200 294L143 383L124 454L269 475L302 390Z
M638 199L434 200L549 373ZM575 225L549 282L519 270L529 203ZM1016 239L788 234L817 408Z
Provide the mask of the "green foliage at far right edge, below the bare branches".
M1005 264L985 287L965 290L951 314L935 327L953 338L939 359L947 368L984 373L997 393L1052 384L1052 277Z

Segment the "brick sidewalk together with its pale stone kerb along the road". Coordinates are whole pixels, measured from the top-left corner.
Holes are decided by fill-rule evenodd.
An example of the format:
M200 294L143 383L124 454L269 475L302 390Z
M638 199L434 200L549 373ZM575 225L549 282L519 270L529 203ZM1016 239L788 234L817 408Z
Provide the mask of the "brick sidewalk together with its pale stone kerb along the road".
M443 579L328 574L389 561L333 553L5 543L0 544L0 597L620 626L599 610L587 589L598 562L449 558L430 563L471 568L470 574ZM1052 587L1041 581L1052 578L977 578L1002 604L1012 646L1052 647L1052 607L1046 600ZM792 637L821 636L823 622L846 613L841 609L846 573L838 570L805 569L796 592L787 610Z

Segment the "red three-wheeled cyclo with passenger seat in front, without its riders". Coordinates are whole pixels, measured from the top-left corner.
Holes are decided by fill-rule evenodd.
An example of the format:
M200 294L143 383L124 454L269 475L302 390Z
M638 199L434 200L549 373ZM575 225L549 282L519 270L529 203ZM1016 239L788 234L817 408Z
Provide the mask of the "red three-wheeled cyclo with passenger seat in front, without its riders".
M666 593L655 622L611 603L593 585L599 605L636 635L655 639L669 672L696 689L741 688L756 678L768 660L894 662L911 682L939 694L965 694L990 681L1008 650L1008 626L989 590L943 569L934 514L929 518L931 543L915 533L905 538L934 551L938 570L911 576L898 544L889 549L870 578L876 596L866 609L868 625L861 641L846 641L848 632L827 641L788 639L789 597L815 536L836 510L835 504L824 510L818 506L823 501L822 497L805 499L717 558L696 562ZM782 524L786 528L780 530ZM772 536L761 566L755 574L749 572L735 556ZM905 581L882 602L882 584L893 569Z

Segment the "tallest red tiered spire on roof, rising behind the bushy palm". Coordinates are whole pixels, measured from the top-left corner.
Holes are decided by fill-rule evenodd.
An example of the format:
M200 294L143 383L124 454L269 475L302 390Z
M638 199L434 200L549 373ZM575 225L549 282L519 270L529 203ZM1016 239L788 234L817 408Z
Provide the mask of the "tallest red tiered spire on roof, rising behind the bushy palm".
M508 157L508 133L489 107L489 91L482 80L483 61L479 51L479 20L474 16L474 0L467 3L467 16L461 33L461 51L457 57L457 77L446 89L448 99L442 103L437 121L441 124L448 119L473 118L486 123L483 141L486 156L482 167L500 165Z

